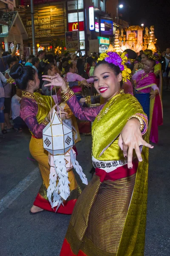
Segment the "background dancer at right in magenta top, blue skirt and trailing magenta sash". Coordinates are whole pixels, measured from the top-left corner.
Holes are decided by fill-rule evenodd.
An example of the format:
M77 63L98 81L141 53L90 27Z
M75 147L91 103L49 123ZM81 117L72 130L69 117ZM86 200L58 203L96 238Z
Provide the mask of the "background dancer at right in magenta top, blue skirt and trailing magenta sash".
M153 143L158 143L158 126L162 125L162 105L156 76L153 73L156 56L148 55L144 63L144 70L132 76L135 80L135 97L138 99L149 120L148 133Z

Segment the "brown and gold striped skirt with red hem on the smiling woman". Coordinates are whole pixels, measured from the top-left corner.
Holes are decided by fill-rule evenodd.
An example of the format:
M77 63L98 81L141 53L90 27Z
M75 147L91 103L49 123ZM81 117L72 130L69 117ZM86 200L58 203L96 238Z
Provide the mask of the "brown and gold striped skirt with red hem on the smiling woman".
M127 165L117 168L116 178L113 172L109 180L102 182L98 173L94 174L74 207L60 256L117 255L136 181L137 164L133 166L129 171ZM126 175L121 175L125 169ZM143 239L135 249L138 253L134 250L134 254L119 255L144 255L145 223L143 226Z

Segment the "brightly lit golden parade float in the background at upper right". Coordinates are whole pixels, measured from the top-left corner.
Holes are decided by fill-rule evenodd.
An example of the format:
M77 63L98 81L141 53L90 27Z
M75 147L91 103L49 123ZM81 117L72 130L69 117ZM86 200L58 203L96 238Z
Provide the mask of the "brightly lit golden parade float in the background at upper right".
M151 49L157 51L156 37L154 34L154 26L150 29L142 26L130 26L128 28L116 30L114 36L114 51L124 52L125 49L132 49L136 53L141 50Z

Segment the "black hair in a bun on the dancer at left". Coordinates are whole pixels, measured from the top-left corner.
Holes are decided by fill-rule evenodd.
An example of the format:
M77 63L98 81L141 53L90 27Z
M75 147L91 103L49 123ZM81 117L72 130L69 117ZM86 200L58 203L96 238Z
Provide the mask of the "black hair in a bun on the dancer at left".
M11 67L9 75L15 80L17 87L21 90L26 90L28 81L34 81L35 70L30 66L22 66L20 63Z

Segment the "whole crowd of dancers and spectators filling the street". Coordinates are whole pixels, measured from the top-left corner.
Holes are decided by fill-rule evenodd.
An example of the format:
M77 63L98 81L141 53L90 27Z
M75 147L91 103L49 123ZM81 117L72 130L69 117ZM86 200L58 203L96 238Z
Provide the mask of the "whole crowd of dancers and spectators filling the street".
M43 183L30 214L43 210L72 214L60 256L143 256L148 148L153 148L149 140L158 142L162 76L168 90L170 49L162 54L145 50L138 56L130 49L120 55L90 56L81 52L53 56L41 50L19 60L16 44L11 54L0 58L0 123L3 134L27 126L32 135L29 148ZM42 132L50 122L51 108L68 114L59 110L61 102L72 113L68 123L75 152L79 132L92 134L95 172L81 192L69 169L70 196L59 208L51 208L50 166Z

